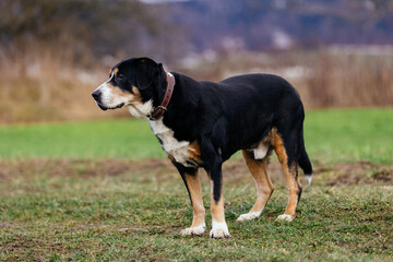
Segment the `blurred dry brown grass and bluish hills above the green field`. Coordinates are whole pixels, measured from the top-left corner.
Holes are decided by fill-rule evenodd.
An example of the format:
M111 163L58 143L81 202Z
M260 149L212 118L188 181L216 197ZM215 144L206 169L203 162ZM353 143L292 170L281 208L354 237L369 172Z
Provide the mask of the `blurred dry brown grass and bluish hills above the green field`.
M148 56L198 80L284 76L306 108L393 105L391 0L1 0L0 123L128 116L91 92Z

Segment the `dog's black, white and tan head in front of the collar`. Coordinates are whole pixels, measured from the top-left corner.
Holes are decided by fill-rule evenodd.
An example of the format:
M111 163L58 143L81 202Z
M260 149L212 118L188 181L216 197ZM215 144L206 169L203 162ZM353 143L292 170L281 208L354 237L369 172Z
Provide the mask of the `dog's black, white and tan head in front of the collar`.
M116 64L110 70L109 80L92 96L103 110L126 106L132 116L146 118L165 86L165 71L160 63L150 58L131 58Z

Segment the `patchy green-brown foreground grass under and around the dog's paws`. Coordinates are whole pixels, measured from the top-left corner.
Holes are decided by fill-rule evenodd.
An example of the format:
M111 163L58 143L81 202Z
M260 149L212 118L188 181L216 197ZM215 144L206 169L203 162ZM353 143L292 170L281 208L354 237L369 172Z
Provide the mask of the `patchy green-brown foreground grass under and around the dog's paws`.
M81 165L81 164L79 164ZM75 167L80 168L80 167ZM157 172L156 169L164 171ZM180 237L192 211L175 168L120 176L29 174L2 178L0 261L392 261L392 186L327 187L325 174L305 189L293 223L277 222L287 190L276 190L262 216L236 223L254 201L251 176L225 177L231 237ZM203 175L203 174L201 174ZM204 177L204 176L203 176Z

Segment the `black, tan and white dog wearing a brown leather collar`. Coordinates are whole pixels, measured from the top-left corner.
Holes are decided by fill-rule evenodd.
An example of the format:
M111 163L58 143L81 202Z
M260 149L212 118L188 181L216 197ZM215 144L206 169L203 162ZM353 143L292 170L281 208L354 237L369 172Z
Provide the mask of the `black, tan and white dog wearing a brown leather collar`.
M237 218L261 215L273 193L266 167L274 150L288 183L289 201L279 221L293 221L301 195L300 166L311 182L312 166L303 141L303 106L297 91L273 74L245 74L219 83L195 81L166 72L150 58L131 58L116 64L109 80L93 92L103 110L127 107L135 118L147 119L162 147L178 169L188 190L193 218L182 236L205 231L198 169L211 181L212 238L229 237L225 222L222 165L242 151L257 184L252 209Z

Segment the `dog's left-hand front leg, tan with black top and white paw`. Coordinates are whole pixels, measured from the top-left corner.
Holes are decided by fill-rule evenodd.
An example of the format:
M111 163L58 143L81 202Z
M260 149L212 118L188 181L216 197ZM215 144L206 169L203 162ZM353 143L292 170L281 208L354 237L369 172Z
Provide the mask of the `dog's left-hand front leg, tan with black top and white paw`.
M188 168L187 170L182 168L178 168L178 169L189 192L192 204L192 215L193 215L191 227L181 230L180 235L200 236L205 231L206 224L205 224L205 209L203 206L201 183L198 176L198 169L190 169L190 168Z

